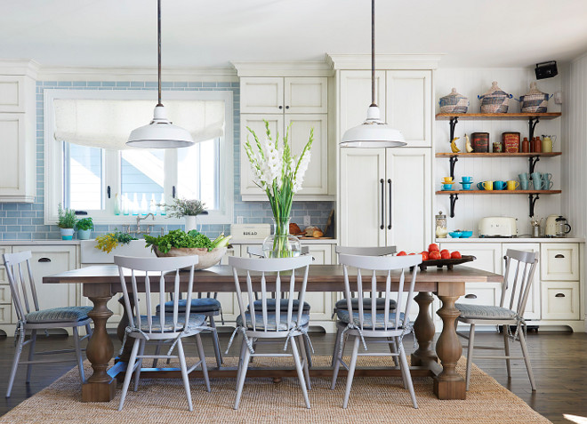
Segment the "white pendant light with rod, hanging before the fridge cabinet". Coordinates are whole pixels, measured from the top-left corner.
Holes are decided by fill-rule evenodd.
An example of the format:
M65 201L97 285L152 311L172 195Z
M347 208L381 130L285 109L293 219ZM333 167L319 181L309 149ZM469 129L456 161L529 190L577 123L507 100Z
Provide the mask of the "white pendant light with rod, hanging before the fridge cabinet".
M398 148L406 146L402 133L382 121L375 104L375 0L371 0L371 105L363 124L342 135L342 148Z

